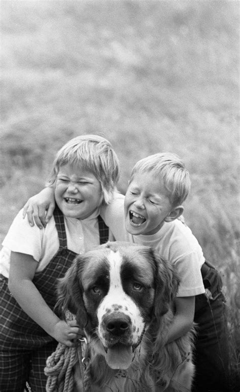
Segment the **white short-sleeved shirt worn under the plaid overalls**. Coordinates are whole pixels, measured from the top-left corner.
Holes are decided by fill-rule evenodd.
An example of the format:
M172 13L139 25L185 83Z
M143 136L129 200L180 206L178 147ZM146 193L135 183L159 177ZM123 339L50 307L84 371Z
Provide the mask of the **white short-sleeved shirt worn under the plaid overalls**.
M77 254L83 254L99 245L98 219L95 211L84 220L64 217L67 248ZM38 262L36 271L42 271L59 249L58 233L54 217L46 228L31 227L27 217L22 218L22 210L14 219L0 252L0 273L9 277L10 256L12 252L31 255Z

